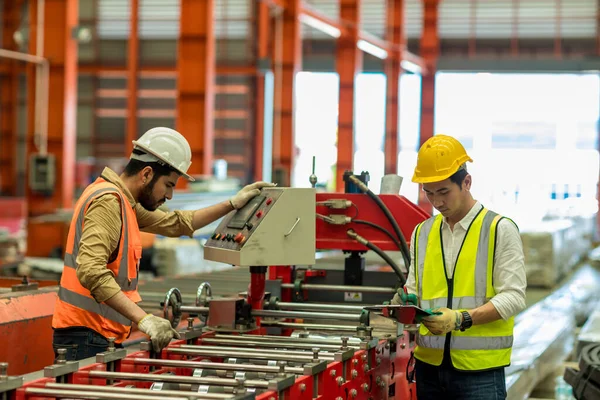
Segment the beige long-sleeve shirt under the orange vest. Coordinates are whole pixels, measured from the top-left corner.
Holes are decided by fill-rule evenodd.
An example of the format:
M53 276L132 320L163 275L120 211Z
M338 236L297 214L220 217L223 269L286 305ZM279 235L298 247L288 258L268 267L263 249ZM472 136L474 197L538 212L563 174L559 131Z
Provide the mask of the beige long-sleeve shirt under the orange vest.
M192 236L193 211L148 211L136 203L119 175L110 168L102 177L114 183L133 207L141 231L162 236ZM100 196L90 204L84 217L83 232L77 255L77 278L94 299L101 303L117 294L121 288L106 267L116 257L121 237L121 206L113 195Z

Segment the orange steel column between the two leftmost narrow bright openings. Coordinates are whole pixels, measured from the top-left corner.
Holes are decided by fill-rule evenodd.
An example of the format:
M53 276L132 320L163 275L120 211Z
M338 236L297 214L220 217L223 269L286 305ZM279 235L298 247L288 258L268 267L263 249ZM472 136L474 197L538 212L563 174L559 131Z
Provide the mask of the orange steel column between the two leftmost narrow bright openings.
M335 190L344 191L344 171L354 164L354 105L356 75L362 70L362 53L357 47L359 39L361 0L341 0L340 18L348 28L337 42L336 69L340 77L339 116L337 138L337 163Z

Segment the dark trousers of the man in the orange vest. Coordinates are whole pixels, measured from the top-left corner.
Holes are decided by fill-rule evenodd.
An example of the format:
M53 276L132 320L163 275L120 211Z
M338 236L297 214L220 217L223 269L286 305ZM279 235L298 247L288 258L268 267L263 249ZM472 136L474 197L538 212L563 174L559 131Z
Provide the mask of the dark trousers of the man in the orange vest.
M54 359L58 349L66 349L67 361L79 361L106 351L108 340L99 333L85 327L55 329L52 338ZM115 347L123 347L115 343Z

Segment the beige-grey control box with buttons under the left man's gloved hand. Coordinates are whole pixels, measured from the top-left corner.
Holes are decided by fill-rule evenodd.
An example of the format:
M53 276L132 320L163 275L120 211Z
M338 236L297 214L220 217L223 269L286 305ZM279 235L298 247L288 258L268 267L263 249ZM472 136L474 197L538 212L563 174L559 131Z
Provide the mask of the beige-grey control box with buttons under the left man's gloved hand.
M313 265L315 210L313 188L264 188L223 218L204 258L238 266Z

